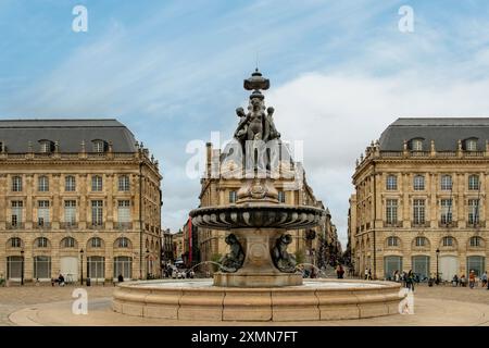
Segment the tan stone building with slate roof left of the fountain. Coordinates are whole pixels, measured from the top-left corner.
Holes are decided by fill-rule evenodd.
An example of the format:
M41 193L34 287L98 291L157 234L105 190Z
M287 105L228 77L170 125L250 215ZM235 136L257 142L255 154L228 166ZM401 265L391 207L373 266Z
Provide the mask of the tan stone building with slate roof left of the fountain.
M160 275L162 176L116 120L0 121L0 274Z

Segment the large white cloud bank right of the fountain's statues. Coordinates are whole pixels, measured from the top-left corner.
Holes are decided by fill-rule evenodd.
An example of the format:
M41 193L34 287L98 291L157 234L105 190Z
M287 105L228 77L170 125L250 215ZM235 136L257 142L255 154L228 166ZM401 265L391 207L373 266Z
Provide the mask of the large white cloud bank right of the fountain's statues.
M355 159L400 116L489 116L489 79L424 73L389 77L310 73L266 96L284 139L304 141L304 167L347 243Z

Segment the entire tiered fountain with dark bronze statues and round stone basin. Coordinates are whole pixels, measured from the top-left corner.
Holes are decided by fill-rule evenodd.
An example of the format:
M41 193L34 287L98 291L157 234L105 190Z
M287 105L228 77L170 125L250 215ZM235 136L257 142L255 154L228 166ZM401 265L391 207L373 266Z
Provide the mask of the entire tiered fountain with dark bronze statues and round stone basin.
M252 90L249 112L236 110L240 122L233 153L242 175L236 203L190 212L193 225L227 232L229 252L220 261L213 282L121 284L114 291L115 311L189 321L317 321L398 313L397 283L304 281L296 272L287 231L317 226L325 212L278 200L274 181L281 142L274 109L264 104L262 90L268 87L269 80L256 70L244 80L244 89Z

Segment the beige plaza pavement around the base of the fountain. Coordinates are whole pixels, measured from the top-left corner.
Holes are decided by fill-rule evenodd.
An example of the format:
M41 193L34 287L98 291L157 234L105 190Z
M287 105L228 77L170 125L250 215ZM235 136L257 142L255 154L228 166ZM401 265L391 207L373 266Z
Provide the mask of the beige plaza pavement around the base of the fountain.
M414 314L322 322L199 322L147 319L115 313L111 310L113 286L85 287L88 293L88 314L72 313L72 291L76 287L24 286L0 288L0 325L95 325L95 326L168 326L168 325L374 325L489 326L489 290L477 287L417 286L414 293Z

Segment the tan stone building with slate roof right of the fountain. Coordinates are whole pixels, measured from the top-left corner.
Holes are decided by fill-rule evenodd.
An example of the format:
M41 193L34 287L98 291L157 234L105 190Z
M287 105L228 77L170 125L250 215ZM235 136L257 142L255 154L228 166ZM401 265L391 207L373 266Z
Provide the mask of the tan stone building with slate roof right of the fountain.
M349 238L355 272L451 279L489 256L489 119L399 119L353 174Z

